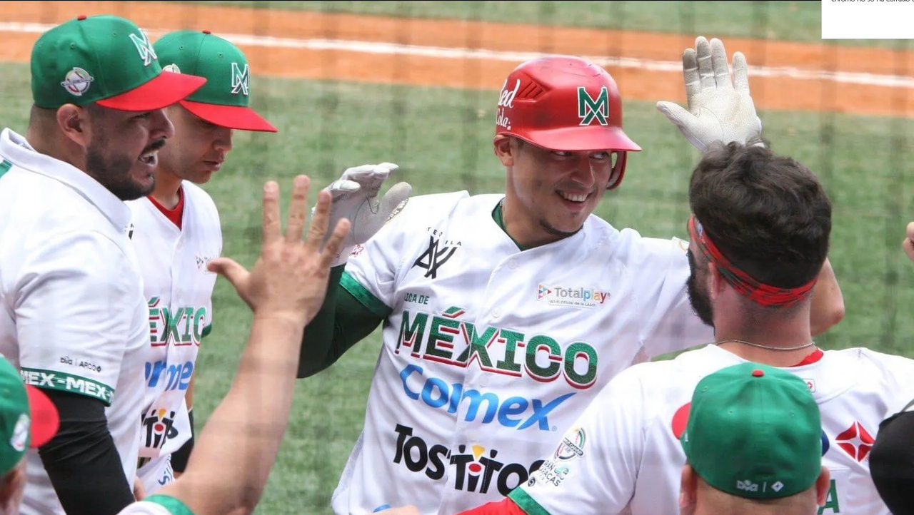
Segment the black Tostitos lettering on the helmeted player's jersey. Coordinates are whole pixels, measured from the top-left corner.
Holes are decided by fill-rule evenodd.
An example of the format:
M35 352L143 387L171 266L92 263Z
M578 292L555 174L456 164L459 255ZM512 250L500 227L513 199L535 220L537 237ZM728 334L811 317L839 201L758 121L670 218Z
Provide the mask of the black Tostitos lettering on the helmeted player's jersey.
M441 444L430 445L421 436L414 436L412 427L398 424L394 431L397 432L394 463L435 480L443 478L446 468L452 467L454 489L460 491L484 494L494 487L504 497L526 482L543 463L541 459L529 467L505 463L498 459L497 450L475 445L460 445L452 452Z

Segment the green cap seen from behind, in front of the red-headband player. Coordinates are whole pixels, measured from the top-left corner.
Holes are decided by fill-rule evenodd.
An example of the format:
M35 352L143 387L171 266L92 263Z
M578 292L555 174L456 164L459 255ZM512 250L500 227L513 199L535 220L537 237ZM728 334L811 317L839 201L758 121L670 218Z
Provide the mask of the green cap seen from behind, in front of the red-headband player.
M822 422L809 386L759 363L704 377L680 442L698 476L741 498L789 497L822 473Z

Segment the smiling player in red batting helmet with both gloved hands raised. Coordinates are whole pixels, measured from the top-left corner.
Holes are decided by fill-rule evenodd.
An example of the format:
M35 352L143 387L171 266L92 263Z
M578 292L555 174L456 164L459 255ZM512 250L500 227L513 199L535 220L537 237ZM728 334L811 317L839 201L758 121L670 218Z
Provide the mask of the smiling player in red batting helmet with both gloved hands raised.
M690 140L759 133L741 55L735 87L718 40L699 38L684 71L700 115L669 111ZM572 57L520 65L498 97L495 132L504 194L400 202L410 191L398 184L378 200L392 165L347 170L330 186L332 216L353 221L352 251L335 263L339 288L307 328L299 374L334 363L382 324L384 340L336 513L415 505L450 514L500 499L613 376L713 341L686 295L686 242L591 215L640 150L604 69ZM817 291L816 312L827 315L813 318L824 331L840 291Z

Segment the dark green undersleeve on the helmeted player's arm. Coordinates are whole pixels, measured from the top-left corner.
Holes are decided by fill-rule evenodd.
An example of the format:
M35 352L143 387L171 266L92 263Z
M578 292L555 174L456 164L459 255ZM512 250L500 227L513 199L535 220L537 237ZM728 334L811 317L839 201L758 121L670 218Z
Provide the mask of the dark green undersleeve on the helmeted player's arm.
M336 363L389 314L390 308L347 274L345 265L332 268L324 304L304 328L298 377L310 377Z

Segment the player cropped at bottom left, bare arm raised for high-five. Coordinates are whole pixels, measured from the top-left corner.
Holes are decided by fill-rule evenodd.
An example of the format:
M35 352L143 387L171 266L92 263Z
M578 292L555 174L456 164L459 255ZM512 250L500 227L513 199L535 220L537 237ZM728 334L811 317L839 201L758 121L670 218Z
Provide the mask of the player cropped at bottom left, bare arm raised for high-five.
M224 257L207 264L210 271L225 275L253 311L238 373L207 420L186 473L158 493L119 510L119 515L253 512L289 422L295 367L288 356L298 352L304 325L324 299L330 264L349 230L348 221L337 222L326 247L320 250L331 203L331 195L321 192L303 238L309 184L306 176L295 178L285 234L278 187L272 182L264 185L260 258L250 273ZM226 262L235 267L227 268ZM238 269L241 273L234 273ZM18 513L24 483L23 466L16 463L29 445L29 422L32 446L47 440L57 428L54 414L48 413L53 405L33 403L29 412L26 388L17 380L16 370L0 358L0 389L5 392L0 400L0 484L4 486L0 514L4 515Z

